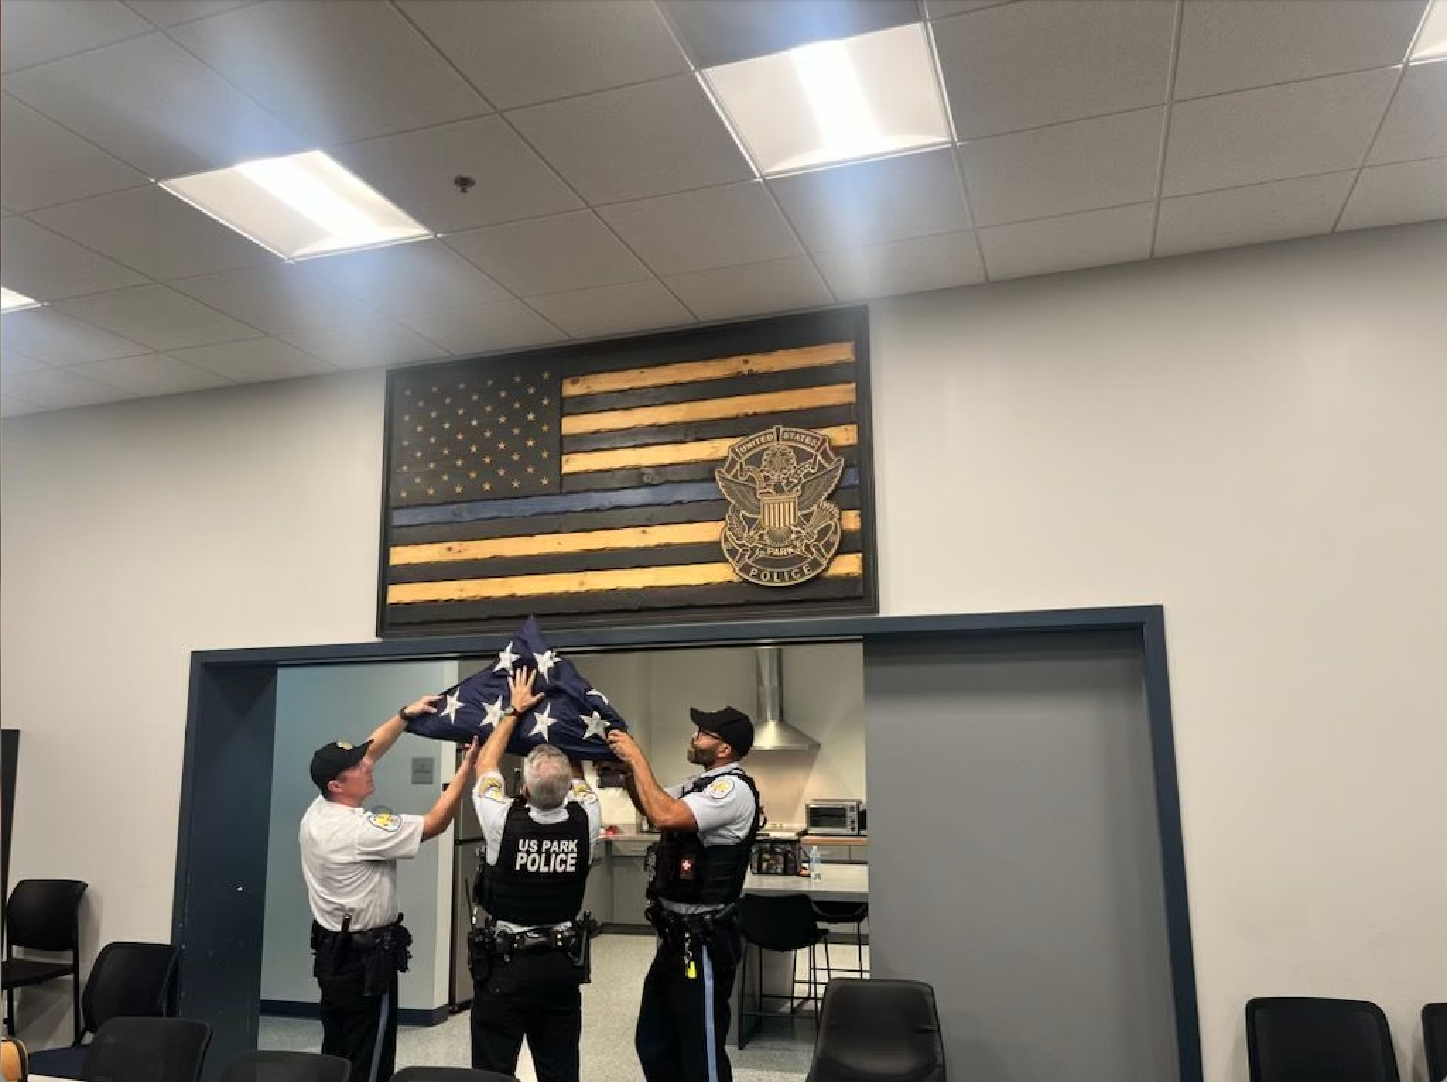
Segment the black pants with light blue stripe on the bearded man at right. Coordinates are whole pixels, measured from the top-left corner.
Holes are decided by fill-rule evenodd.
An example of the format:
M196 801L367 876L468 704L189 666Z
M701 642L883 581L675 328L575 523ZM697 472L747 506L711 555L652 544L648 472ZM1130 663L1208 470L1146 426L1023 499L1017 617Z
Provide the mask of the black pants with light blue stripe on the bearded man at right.
M634 1033L648 1082L732 1082L724 1039L739 953L737 943L718 946L697 949L690 979L679 950L658 942Z

